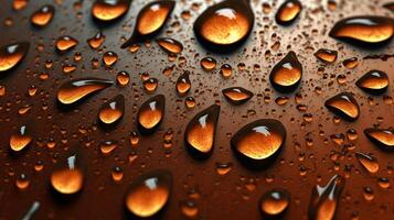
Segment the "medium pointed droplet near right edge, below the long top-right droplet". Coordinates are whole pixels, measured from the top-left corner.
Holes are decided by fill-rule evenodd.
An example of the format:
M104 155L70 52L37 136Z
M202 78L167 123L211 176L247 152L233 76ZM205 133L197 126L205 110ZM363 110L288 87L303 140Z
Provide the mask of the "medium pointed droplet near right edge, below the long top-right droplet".
M370 70L362 76L355 85L366 92L380 95L387 90L388 76L381 70Z

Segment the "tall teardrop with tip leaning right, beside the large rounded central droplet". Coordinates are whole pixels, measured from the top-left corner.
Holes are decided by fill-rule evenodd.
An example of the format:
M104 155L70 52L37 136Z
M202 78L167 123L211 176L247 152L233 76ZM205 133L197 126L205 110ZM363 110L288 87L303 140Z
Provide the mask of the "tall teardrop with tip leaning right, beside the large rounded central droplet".
M194 116L187 127L184 142L196 158L206 158L213 152L220 111L220 106L212 105Z

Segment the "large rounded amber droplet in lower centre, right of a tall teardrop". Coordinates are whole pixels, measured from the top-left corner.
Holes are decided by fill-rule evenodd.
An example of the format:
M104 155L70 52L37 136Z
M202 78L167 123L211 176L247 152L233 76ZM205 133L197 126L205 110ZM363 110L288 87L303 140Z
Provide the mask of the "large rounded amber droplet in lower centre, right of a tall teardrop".
M231 139L231 146L245 165L259 168L271 163L286 141L286 129L275 119L246 124Z

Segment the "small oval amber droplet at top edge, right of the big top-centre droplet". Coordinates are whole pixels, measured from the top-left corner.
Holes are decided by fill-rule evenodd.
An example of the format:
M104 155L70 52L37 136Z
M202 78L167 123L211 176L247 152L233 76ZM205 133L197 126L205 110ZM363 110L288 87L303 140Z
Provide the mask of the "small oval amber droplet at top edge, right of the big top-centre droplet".
M290 25L302 10L301 2L298 0L286 0L275 14L276 23Z

